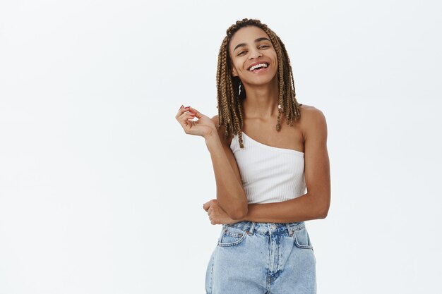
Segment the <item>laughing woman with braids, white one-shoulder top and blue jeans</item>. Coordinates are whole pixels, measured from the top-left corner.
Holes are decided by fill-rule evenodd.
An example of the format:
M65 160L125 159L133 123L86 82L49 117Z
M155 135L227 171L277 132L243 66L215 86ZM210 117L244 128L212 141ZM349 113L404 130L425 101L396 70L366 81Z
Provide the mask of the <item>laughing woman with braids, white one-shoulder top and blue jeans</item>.
M217 199L203 209L222 231L207 294L316 293L304 221L324 219L330 206L327 126L297 102L285 46L259 20L227 30L217 99L213 118L191 106L176 116L186 134L205 138L215 172Z

